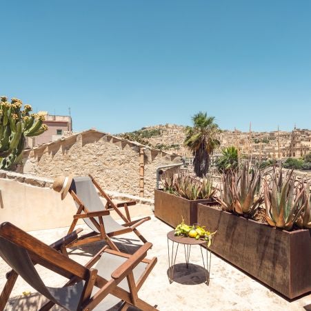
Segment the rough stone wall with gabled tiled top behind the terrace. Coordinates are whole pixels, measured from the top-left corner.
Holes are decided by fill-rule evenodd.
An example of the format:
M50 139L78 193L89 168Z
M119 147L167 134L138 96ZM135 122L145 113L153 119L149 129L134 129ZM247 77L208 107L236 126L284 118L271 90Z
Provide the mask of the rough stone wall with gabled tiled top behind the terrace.
M139 152L143 150L144 197L153 197L156 170L179 163L177 155L146 148L110 134L88 130L23 152L21 172L54 179L63 174L91 174L108 190L139 195Z

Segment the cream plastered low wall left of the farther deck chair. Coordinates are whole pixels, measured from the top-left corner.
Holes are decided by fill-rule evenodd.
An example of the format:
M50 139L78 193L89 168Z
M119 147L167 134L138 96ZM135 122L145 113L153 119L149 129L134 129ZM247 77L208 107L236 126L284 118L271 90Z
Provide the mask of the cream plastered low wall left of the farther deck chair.
M77 211L72 197L63 201L52 180L0 170L0 223L32 231L69 226Z

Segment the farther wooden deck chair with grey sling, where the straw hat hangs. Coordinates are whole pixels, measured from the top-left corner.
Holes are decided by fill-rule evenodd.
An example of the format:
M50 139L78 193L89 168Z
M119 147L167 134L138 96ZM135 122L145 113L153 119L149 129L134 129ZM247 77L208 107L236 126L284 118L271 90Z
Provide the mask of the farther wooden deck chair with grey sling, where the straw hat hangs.
M106 205L99 198L97 190L107 200ZM68 245L68 247L91 243L95 241L106 240L112 250L119 250L110 237L115 237L127 232L134 232L137 237L146 243L146 239L141 235L137 227L150 220L150 217L143 217L132 221L128 205L136 204L135 201L114 204L112 199L104 192L99 184L89 175L89 177L74 177L69 188L74 202L77 205L77 214L74 215L72 224L68 233L73 232L77 221L83 219L92 229L89 234L84 234ZM123 207L126 214L123 214L120 208ZM110 210L115 210L124 223L119 224L110 216Z

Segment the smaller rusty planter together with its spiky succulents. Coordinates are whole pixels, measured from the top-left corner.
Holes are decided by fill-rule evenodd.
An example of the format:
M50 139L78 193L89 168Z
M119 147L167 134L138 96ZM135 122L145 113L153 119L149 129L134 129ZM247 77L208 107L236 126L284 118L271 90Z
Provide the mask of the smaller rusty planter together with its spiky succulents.
M191 174L164 174L163 190L154 190L154 215L176 228L182 220L197 223L197 205L214 203L215 189L208 178Z

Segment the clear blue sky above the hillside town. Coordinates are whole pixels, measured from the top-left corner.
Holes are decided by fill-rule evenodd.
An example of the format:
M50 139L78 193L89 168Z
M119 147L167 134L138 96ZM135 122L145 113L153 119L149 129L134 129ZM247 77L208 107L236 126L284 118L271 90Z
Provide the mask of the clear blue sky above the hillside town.
M74 130L311 128L311 1L0 0L0 93Z

